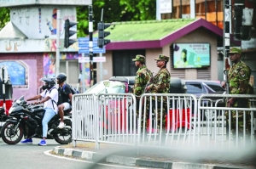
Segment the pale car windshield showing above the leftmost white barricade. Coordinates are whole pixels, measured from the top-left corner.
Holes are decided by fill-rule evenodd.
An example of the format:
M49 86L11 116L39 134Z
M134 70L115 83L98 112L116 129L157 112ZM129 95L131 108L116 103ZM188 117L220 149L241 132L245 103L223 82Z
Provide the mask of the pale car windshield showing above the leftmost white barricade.
M125 82L102 81L90 87L85 93L125 93Z

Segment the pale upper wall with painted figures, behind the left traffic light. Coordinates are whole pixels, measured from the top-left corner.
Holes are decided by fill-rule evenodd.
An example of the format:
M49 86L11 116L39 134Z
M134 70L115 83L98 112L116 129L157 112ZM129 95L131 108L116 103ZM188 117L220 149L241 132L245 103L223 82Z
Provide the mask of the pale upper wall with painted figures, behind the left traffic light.
M70 6L14 7L10 20L29 39L56 38L57 10L61 10L60 38L64 38L65 20L77 20L76 8ZM72 27L77 30L76 25ZM76 38L75 34L73 38Z

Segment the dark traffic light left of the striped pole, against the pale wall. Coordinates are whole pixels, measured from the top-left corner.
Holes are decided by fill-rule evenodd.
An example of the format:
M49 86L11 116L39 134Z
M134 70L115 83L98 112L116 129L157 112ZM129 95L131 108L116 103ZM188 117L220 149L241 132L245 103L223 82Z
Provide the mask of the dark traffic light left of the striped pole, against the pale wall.
M68 48L70 45L72 45L74 40L69 39L69 37L72 37L77 31L71 31L69 28L73 27L73 25L77 25L77 22L71 22L68 19L65 20L65 37L64 37L64 47Z

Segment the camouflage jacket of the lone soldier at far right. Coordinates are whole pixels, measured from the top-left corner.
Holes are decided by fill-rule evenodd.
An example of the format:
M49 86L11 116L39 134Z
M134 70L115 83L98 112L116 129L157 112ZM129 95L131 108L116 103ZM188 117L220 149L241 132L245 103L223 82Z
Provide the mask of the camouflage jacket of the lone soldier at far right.
M230 94L248 94L251 69L242 61L229 70ZM243 105L239 105L243 104ZM248 99L236 99L234 107L248 107Z

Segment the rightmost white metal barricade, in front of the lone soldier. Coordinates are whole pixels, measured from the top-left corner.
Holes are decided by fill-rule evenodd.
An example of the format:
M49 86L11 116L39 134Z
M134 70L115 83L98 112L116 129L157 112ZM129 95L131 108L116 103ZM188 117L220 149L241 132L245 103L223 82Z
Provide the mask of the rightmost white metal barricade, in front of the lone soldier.
M225 104L222 104L221 106L218 105L218 102L221 100L217 100L214 106L207 106L202 105L204 99L206 98L219 98L223 97L224 99L229 98L236 98L236 99L249 99L250 100L250 108L231 108L231 107L225 107ZM248 145L248 142L254 146L255 140L254 140L254 127L253 127L253 120L254 115L253 111L256 110L255 107L253 107L253 99L256 99L256 95L245 95L245 94L203 94L201 95L199 101L198 101L198 112L201 111L215 111L216 113L212 114L214 117L207 120L207 123L203 123L202 121L198 121L198 127L200 131L200 142L201 145L207 145L210 146L218 146L218 147L230 147L234 148L234 146L238 147L242 144L244 146ZM244 106L246 107L246 106ZM231 130L230 125L230 119L232 112L236 113L236 132L233 132ZM242 125L243 125L243 131L242 134L238 134L238 115L242 115ZM249 116L250 120L250 127L247 128L247 120L246 116ZM207 124L207 126L205 125ZM203 132L202 132L203 131ZM250 131L250 133L247 134L247 131Z

